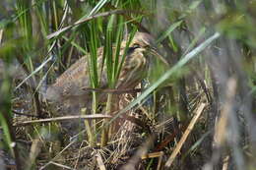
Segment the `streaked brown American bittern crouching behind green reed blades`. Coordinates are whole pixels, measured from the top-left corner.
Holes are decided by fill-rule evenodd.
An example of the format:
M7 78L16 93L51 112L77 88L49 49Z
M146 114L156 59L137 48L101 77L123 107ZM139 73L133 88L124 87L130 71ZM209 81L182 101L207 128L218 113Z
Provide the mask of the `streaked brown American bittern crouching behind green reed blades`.
M120 49L120 56L123 55L125 46L126 42L123 41ZM120 76L116 84L117 89L134 88L146 77L149 64L147 54L149 52L157 54L154 48L154 38L148 33L137 32L129 45ZM102 53L103 48L98 48L98 70L101 68ZM78 98L80 98L83 103L89 104L91 102L91 91L82 89L83 87L90 86L87 57L89 56L79 59L56 80L55 84L50 85L47 88L47 99L55 101L69 99L73 100L71 101L73 103L78 103ZM163 59L161 58L161 60ZM107 79L105 67L103 67L102 73L98 71L98 75L100 75L99 87L106 88Z

